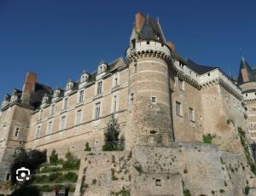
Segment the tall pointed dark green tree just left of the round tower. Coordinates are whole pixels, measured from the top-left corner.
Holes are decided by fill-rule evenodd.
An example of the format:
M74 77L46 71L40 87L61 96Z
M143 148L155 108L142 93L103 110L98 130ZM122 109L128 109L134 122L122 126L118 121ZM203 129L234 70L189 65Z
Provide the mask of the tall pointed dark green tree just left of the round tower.
M114 150L124 150L124 136L119 138L120 127L118 120L113 117L110 117L108 122L107 130L105 131L105 144L102 147L104 151L114 151Z

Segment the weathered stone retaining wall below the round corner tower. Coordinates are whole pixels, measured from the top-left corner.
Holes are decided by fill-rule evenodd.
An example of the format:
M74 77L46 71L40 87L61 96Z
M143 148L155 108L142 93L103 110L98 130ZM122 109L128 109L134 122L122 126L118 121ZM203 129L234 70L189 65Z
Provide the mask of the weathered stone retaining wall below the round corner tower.
M214 144L174 142L169 147L134 147L131 152L84 153L75 195L244 195L255 185L244 153ZM253 193L253 190L252 190ZM253 194L252 194L253 195Z

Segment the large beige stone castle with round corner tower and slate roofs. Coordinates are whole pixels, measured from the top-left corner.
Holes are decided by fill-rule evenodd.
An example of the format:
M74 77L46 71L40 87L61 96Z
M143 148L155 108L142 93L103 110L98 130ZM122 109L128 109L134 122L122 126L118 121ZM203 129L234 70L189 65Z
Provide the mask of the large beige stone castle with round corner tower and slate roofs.
M37 74L28 72L23 89L5 95L1 105L0 179L9 175L12 155L20 147L55 149L60 156L69 150L83 157L88 142L93 151L102 152L104 131L113 115L125 136L123 154L132 151L133 158L127 161L140 164L145 172L145 176L130 174L132 183L124 182L131 195L180 195L184 186L195 195L210 195L215 187L216 195L225 189L223 195L242 195L245 179L253 174L246 167L223 180L233 174L228 166L221 169L219 158L239 168L247 164L238 127L247 130L249 124L249 134L256 139L256 79L247 62L241 60L236 83L217 66L184 60L166 40L159 21L140 13L125 54L125 61L122 57L102 61L96 72L82 72L79 80L68 80L64 89L40 84ZM204 144L203 135L213 135L214 144ZM101 160L105 163L102 156L95 158L96 165ZM161 167L154 168L148 159L159 159ZM177 159L177 164L168 168L162 159ZM183 174L184 165L194 176ZM157 186L154 190L147 182L151 176ZM88 195L111 191L94 190L99 193Z

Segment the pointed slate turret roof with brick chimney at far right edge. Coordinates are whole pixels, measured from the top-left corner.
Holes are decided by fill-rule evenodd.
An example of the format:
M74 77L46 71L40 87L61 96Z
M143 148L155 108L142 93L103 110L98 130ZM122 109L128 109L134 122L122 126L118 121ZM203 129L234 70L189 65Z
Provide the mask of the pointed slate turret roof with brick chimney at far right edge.
M241 57L239 75L238 75L238 85L256 82L255 69L247 63L245 58Z

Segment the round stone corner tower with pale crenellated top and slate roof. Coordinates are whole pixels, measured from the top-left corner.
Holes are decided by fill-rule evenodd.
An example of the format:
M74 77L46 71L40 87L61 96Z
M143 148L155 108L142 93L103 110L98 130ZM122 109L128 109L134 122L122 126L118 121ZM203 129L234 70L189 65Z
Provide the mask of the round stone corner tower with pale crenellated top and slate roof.
M138 13L130 47L126 50L129 66L127 148L166 146L174 141L168 66L172 63L171 55L159 22Z

